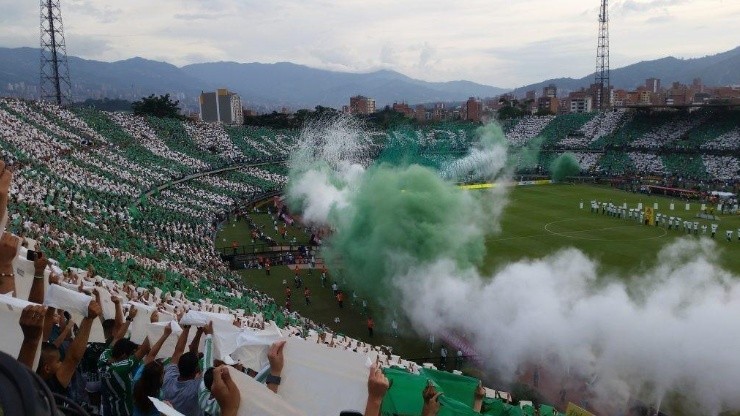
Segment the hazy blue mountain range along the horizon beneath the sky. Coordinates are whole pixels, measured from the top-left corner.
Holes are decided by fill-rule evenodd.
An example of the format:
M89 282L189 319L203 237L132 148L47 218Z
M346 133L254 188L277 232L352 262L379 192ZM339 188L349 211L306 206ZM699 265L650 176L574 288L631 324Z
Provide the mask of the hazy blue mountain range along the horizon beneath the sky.
M0 95L35 98L38 88L40 52L34 48L0 48ZM370 73L335 72L289 62L274 64L209 62L177 67L143 58L101 62L68 57L73 95L86 98L136 100L150 94L170 93L185 107L197 108L201 91L228 88L242 97L246 107L266 110L280 107L313 108L317 105L339 108L349 97L365 95L378 107L394 102L459 102L468 97L494 97L510 88L470 81L427 82L391 70ZM617 88L635 88L646 78L660 78L663 85L679 81L690 83L702 78L705 85L740 84L740 47L696 59L666 57L612 69L611 83ZM517 88L541 90L555 84L567 93L588 87L593 75L580 79L549 79Z

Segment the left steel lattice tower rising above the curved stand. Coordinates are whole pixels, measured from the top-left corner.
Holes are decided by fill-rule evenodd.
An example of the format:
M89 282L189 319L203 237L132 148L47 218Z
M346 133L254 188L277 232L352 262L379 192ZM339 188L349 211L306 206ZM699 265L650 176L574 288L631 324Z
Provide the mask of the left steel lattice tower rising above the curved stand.
M72 101L67 46L60 0L41 0L41 75L39 98L59 105Z

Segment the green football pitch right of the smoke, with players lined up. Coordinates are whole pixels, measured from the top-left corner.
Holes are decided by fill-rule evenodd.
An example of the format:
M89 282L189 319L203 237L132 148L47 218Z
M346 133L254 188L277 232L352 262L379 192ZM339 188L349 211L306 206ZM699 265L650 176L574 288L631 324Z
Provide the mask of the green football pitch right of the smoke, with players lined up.
M683 227L646 226L632 219L591 213L590 202L611 202L628 208L653 207L657 213L699 222L699 234L687 235ZM583 202L583 208L580 204ZM674 210L670 210L670 204ZM686 204L689 210L686 210ZM711 223L719 225L714 241L720 264L740 275L740 215L720 216L719 221L696 218L701 203L663 196L635 194L609 187L589 185L543 185L517 187L510 193L501 233L487 241L483 272L490 273L503 264L527 258L541 258L557 250L574 247L599 262L603 273L630 276L655 264L661 248L678 238L710 238ZM703 234L702 225L707 225ZM727 241L725 230L733 231Z

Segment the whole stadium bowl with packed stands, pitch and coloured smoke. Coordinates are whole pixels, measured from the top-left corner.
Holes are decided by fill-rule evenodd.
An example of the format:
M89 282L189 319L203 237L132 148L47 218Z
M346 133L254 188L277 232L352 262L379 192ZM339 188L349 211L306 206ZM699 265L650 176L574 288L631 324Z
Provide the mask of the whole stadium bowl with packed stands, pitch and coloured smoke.
M0 148L0 351L41 330L34 304L66 311L44 331L83 363L82 408L100 375L75 341L124 336L147 364L238 363L213 386L239 414L362 412L371 364L382 414L430 385L439 414L740 408L717 381L738 364L736 109L275 130L1 99Z

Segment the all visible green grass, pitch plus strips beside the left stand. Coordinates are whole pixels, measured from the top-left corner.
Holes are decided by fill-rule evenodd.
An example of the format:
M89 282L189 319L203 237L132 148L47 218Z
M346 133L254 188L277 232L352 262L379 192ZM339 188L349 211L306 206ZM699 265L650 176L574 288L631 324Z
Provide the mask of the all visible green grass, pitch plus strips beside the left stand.
M470 191L479 192L479 191ZM481 197L485 194L481 193ZM665 197L632 194L608 187L587 185L544 185L517 187L509 194L501 233L487 240L487 256L481 271L493 273L497 268L514 261L541 258L568 247L575 247L601 265L603 274L616 275L621 278L639 276L640 272L654 264L659 250L678 238L698 238L685 236L680 230L667 230L664 227L644 226L636 221L617 219L607 215L592 214L590 201L613 202L617 205L627 203L636 207L639 202L645 206L658 203L657 212L681 216L684 219L693 217L699 211L700 204L691 202L691 209L685 210L685 201ZM584 208L580 209L580 202ZM675 204L676 211L670 213L670 203ZM264 210L263 210L264 211ZM254 216L255 222L264 226L265 232L276 238L272 229L272 220L267 214ZM698 220L702 224L708 221ZM718 221L720 227L715 241L720 251L720 261L724 268L740 275L740 241L737 229L740 228L740 216L724 216ZM734 231L733 241L725 239L725 229ZM299 227L289 229L289 238L295 236L299 242L306 242L308 236ZM701 237L700 230L700 237ZM217 246L227 245L236 240L242 244L251 243L249 229L244 222L227 224L217 239ZM280 241L280 240L277 240ZM246 270L241 272L245 281L254 287L283 302L283 279L292 283L293 271L287 267L274 267L271 276L264 270ZM320 272L314 271L309 276L306 270L301 272L308 287L313 292L313 304L304 304L302 292L294 291L293 308L304 316L318 323L325 323L330 328L352 337L374 344L390 345L394 352L409 359L421 359L438 354L438 346L430 353L425 340L416 338L411 331L403 331L401 337L395 338L390 330L390 318L384 317L381 311L373 310L373 300L369 299L370 311L376 320L376 335L371 340L367 337L366 318L359 304L351 306L351 295L345 302L345 308L339 309L331 289L322 288ZM331 278L331 271L330 271ZM342 281L339 281L340 287ZM351 288L342 287L351 293ZM334 318L339 317L340 325L334 325Z

